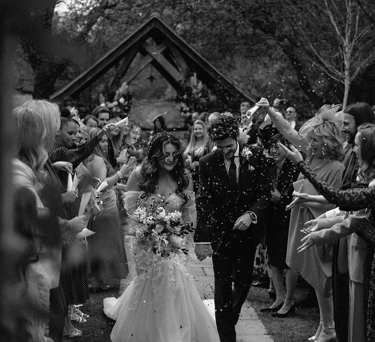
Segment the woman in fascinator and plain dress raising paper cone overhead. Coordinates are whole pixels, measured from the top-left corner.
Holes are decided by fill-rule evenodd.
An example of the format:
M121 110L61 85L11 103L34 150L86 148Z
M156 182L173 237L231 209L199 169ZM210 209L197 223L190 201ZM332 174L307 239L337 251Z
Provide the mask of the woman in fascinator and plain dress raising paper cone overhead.
M337 107L324 107L318 113L320 115L311 119L305 124L305 136L299 135L290 123L280 114L276 113L267 99L262 98L257 104L259 107L267 109L268 114L280 133L284 135L293 145L305 152L306 163L334 188L339 188L341 183L344 165L341 163L344 157L342 141L338 126L329 119L334 117ZM299 191L303 187L304 192L315 192L304 181L300 175L293 184L294 189ZM319 304L320 321L322 330L318 341L329 341L335 338L335 328L333 322L333 298L332 298L332 256L323 252L323 249L332 253L332 246L315 247L309 254L298 255L298 245L303 237L300 226L333 207L329 204L316 205L307 203L306 205L292 208L291 221L289 226L287 265L297 272L314 287ZM281 309L272 314L274 317L285 317L294 312L293 302L284 302Z

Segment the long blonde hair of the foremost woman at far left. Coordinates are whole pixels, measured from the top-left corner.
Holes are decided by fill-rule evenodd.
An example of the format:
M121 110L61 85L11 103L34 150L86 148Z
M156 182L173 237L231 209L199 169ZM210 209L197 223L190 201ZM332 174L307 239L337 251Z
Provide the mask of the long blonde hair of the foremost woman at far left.
M48 159L44 146L46 129L43 117L35 110L22 107L13 109L12 114L17 127L17 158L39 176Z

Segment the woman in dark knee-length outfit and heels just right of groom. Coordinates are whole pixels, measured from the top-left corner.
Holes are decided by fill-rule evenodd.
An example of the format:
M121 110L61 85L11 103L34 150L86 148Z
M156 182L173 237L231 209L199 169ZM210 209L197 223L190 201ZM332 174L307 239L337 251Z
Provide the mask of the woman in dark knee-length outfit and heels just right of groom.
M274 303L261 311L276 312L281 309L284 301L292 302L297 272L286 264L290 213L285 211L286 205L292 201L293 182L297 179L298 171L286 159L277 143L286 144L282 134L274 135L270 140L269 154L275 164L270 169L271 174L271 205L266 218L266 245L269 262L272 269L272 280L276 292ZM284 293L284 274L286 296Z

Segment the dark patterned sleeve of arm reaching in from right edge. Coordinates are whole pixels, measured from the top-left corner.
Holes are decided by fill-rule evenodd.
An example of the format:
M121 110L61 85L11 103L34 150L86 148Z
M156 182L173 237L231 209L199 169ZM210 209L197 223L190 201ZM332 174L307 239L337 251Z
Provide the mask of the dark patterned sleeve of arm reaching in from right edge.
M299 170L310 180L318 192L329 202L340 206L344 211L357 211L374 206L375 188L354 188L348 190L334 190L327 183L322 182L304 162L297 164Z

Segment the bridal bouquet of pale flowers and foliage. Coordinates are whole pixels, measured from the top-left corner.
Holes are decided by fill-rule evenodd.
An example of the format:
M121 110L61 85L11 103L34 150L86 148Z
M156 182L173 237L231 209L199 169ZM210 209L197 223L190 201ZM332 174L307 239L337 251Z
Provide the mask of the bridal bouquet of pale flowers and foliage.
M179 251L187 254L183 237L193 232L192 224L185 223L178 211L167 213L163 197L148 198L137 207L133 217L141 223L134 227L138 247L162 257Z

